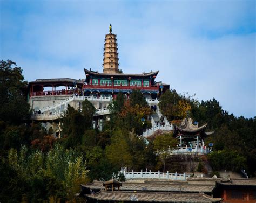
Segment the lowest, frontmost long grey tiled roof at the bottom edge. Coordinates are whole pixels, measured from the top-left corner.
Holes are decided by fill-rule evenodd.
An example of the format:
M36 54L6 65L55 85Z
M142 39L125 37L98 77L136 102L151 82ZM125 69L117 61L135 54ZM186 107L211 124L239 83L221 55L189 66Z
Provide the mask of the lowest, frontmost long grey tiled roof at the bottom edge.
M112 192L100 191L86 197L98 201L140 201L140 202L219 202L203 193L161 193L161 192Z

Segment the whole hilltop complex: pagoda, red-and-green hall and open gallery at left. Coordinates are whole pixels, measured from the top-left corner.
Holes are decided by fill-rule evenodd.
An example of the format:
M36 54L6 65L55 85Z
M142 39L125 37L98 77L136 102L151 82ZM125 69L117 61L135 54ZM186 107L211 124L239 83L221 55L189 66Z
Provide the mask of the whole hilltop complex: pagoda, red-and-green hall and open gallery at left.
M162 82L156 82L159 71L151 71L142 74L124 74L119 69L117 36L112 33L110 25L109 33L105 35L103 72L84 69L85 79L37 79L29 82L27 87L28 97L50 95L84 96L112 96L122 92L129 97L133 89L142 91L144 97L156 99L170 86ZM84 76L82 77L84 78ZM49 89L50 87L50 89ZM56 88L62 88L56 90ZM48 90L44 90L48 88Z

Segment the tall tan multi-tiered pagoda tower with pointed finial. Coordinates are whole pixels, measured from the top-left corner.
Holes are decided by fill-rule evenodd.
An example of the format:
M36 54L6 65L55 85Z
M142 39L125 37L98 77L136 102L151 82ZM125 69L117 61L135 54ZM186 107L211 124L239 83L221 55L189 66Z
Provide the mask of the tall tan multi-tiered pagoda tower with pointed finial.
M112 33L112 25L109 26L109 34L105 35L103 73L119 73L118 48L116 34Z

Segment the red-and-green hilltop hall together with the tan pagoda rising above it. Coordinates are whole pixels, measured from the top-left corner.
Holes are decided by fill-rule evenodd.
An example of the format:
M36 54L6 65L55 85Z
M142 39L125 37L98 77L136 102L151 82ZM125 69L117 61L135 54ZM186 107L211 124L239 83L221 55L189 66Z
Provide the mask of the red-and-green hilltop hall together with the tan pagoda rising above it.
M117 36L112 33L110 25L109 34L105 35L103 73L84 69L85 83L83 92L85 95L104 95L113 97L118 92L129 95L133 89L139 89L147 98L155 99L170 86L155 79L159 71L151 71L142 74L124 74L119 70L119 58Z

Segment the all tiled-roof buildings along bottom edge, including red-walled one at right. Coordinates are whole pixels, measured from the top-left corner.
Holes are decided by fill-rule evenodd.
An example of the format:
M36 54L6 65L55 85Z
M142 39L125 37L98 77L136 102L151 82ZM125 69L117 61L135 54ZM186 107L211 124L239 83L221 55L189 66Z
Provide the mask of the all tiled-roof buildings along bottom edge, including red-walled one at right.
M93 181L82 185L86 202L255 202L256 179L188 178Z

